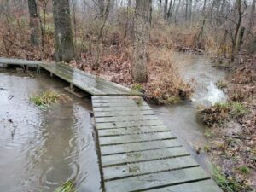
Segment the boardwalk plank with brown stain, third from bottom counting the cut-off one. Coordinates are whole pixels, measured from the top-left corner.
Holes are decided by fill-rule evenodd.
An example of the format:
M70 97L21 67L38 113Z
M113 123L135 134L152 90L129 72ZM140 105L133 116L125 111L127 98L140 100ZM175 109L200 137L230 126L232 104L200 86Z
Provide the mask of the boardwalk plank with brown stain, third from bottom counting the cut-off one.
M174 169L199 166L191 156L182 156L164 160L149 160L140 163L131 163L122 166L103 168L104 179L112 180L121 177L138 176L154 172L166 172Z

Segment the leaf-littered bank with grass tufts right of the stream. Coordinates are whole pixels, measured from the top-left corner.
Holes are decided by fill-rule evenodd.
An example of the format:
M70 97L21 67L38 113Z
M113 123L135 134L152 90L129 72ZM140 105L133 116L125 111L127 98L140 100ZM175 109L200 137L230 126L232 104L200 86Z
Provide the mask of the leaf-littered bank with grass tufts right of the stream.
M218 86L228 101L201 109L208 125L205 151L218 167L215 181L225 191L256 190L256 56L238 55Z

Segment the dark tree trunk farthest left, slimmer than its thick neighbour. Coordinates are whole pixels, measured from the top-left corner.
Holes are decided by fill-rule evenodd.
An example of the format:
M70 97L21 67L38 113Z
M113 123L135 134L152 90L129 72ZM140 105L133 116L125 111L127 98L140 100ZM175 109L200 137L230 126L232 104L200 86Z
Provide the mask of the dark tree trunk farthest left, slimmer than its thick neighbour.
M35 0L28 0L28 11L30 16L30 42L33 46L39 46L40 44L40 20L38 18L38 7Z

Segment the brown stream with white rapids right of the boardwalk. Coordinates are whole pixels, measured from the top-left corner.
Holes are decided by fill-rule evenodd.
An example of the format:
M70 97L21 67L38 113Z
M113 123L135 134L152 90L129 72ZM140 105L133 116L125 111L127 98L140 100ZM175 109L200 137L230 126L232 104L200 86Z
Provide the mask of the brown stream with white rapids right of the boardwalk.
M204 136L206 127L196 118L196 111L200 105L211 105L226 100L224 92L215 85L218 80L224 79L225 73L213 68L206 56L176 53L173 60L183 78L195 86L191 102L152 107L201 166L207 169L207 155L202 153L207 143ZM201 153L196 153L200 148Z

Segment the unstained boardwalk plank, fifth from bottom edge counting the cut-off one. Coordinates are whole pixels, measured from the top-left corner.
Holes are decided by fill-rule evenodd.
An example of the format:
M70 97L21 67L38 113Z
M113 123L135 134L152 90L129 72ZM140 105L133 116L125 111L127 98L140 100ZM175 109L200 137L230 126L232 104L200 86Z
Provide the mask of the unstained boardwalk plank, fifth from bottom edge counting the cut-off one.
M177 139L168 139L160 141L148 141L143 143L125 143L110 146L101 146L101 154L124 154L128 152L145 151L150 149L181 147Z

